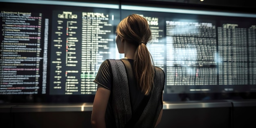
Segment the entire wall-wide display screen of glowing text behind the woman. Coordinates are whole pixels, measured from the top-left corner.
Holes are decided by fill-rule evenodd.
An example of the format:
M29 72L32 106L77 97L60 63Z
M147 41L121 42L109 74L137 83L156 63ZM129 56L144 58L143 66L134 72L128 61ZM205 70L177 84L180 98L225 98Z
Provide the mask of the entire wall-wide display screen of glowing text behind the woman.
M92 102L101 63L123 57L115 28L132 13L150 25L165 101L255 98L256 14L11 0L0 2L0 102Z

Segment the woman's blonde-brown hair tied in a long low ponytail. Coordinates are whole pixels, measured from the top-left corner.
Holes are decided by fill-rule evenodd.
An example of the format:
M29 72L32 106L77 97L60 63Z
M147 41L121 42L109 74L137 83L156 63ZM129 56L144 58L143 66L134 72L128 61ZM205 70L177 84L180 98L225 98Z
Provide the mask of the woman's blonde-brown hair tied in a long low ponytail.
M134 54L134 74L137 85L145 95L150 94L154 87L154 63L146 44L152 39L148 21L137 14L121 20L117 25L117 35L137 46Z

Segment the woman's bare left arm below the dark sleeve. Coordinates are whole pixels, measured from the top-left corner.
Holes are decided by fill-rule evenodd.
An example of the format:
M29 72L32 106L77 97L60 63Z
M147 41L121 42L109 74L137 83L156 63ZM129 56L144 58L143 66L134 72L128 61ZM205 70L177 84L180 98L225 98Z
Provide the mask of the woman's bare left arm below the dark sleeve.
M105 112L108 105L110 90L99 87L94 97L92 107L92 128L106 128Z

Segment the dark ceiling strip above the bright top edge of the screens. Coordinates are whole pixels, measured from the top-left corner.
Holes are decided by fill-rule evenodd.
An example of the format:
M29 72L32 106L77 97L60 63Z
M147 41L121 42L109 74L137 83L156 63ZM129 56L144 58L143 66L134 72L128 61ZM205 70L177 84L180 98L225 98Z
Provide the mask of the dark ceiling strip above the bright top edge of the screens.
M235 12L256 13L255 0L59 0L79 2L113 2L143 4L163 7L208 9Z

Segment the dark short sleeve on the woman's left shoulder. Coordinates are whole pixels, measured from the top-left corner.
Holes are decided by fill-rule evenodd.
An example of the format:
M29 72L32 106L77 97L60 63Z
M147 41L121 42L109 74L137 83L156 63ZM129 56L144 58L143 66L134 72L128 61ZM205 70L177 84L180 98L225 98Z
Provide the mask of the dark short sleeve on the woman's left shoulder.
M101 66L99 67L99 71L93 81L97 83L98 86L103 88L107 88L108 90L111 89L111 75L110 75L110 66L108 61L103 61Z

